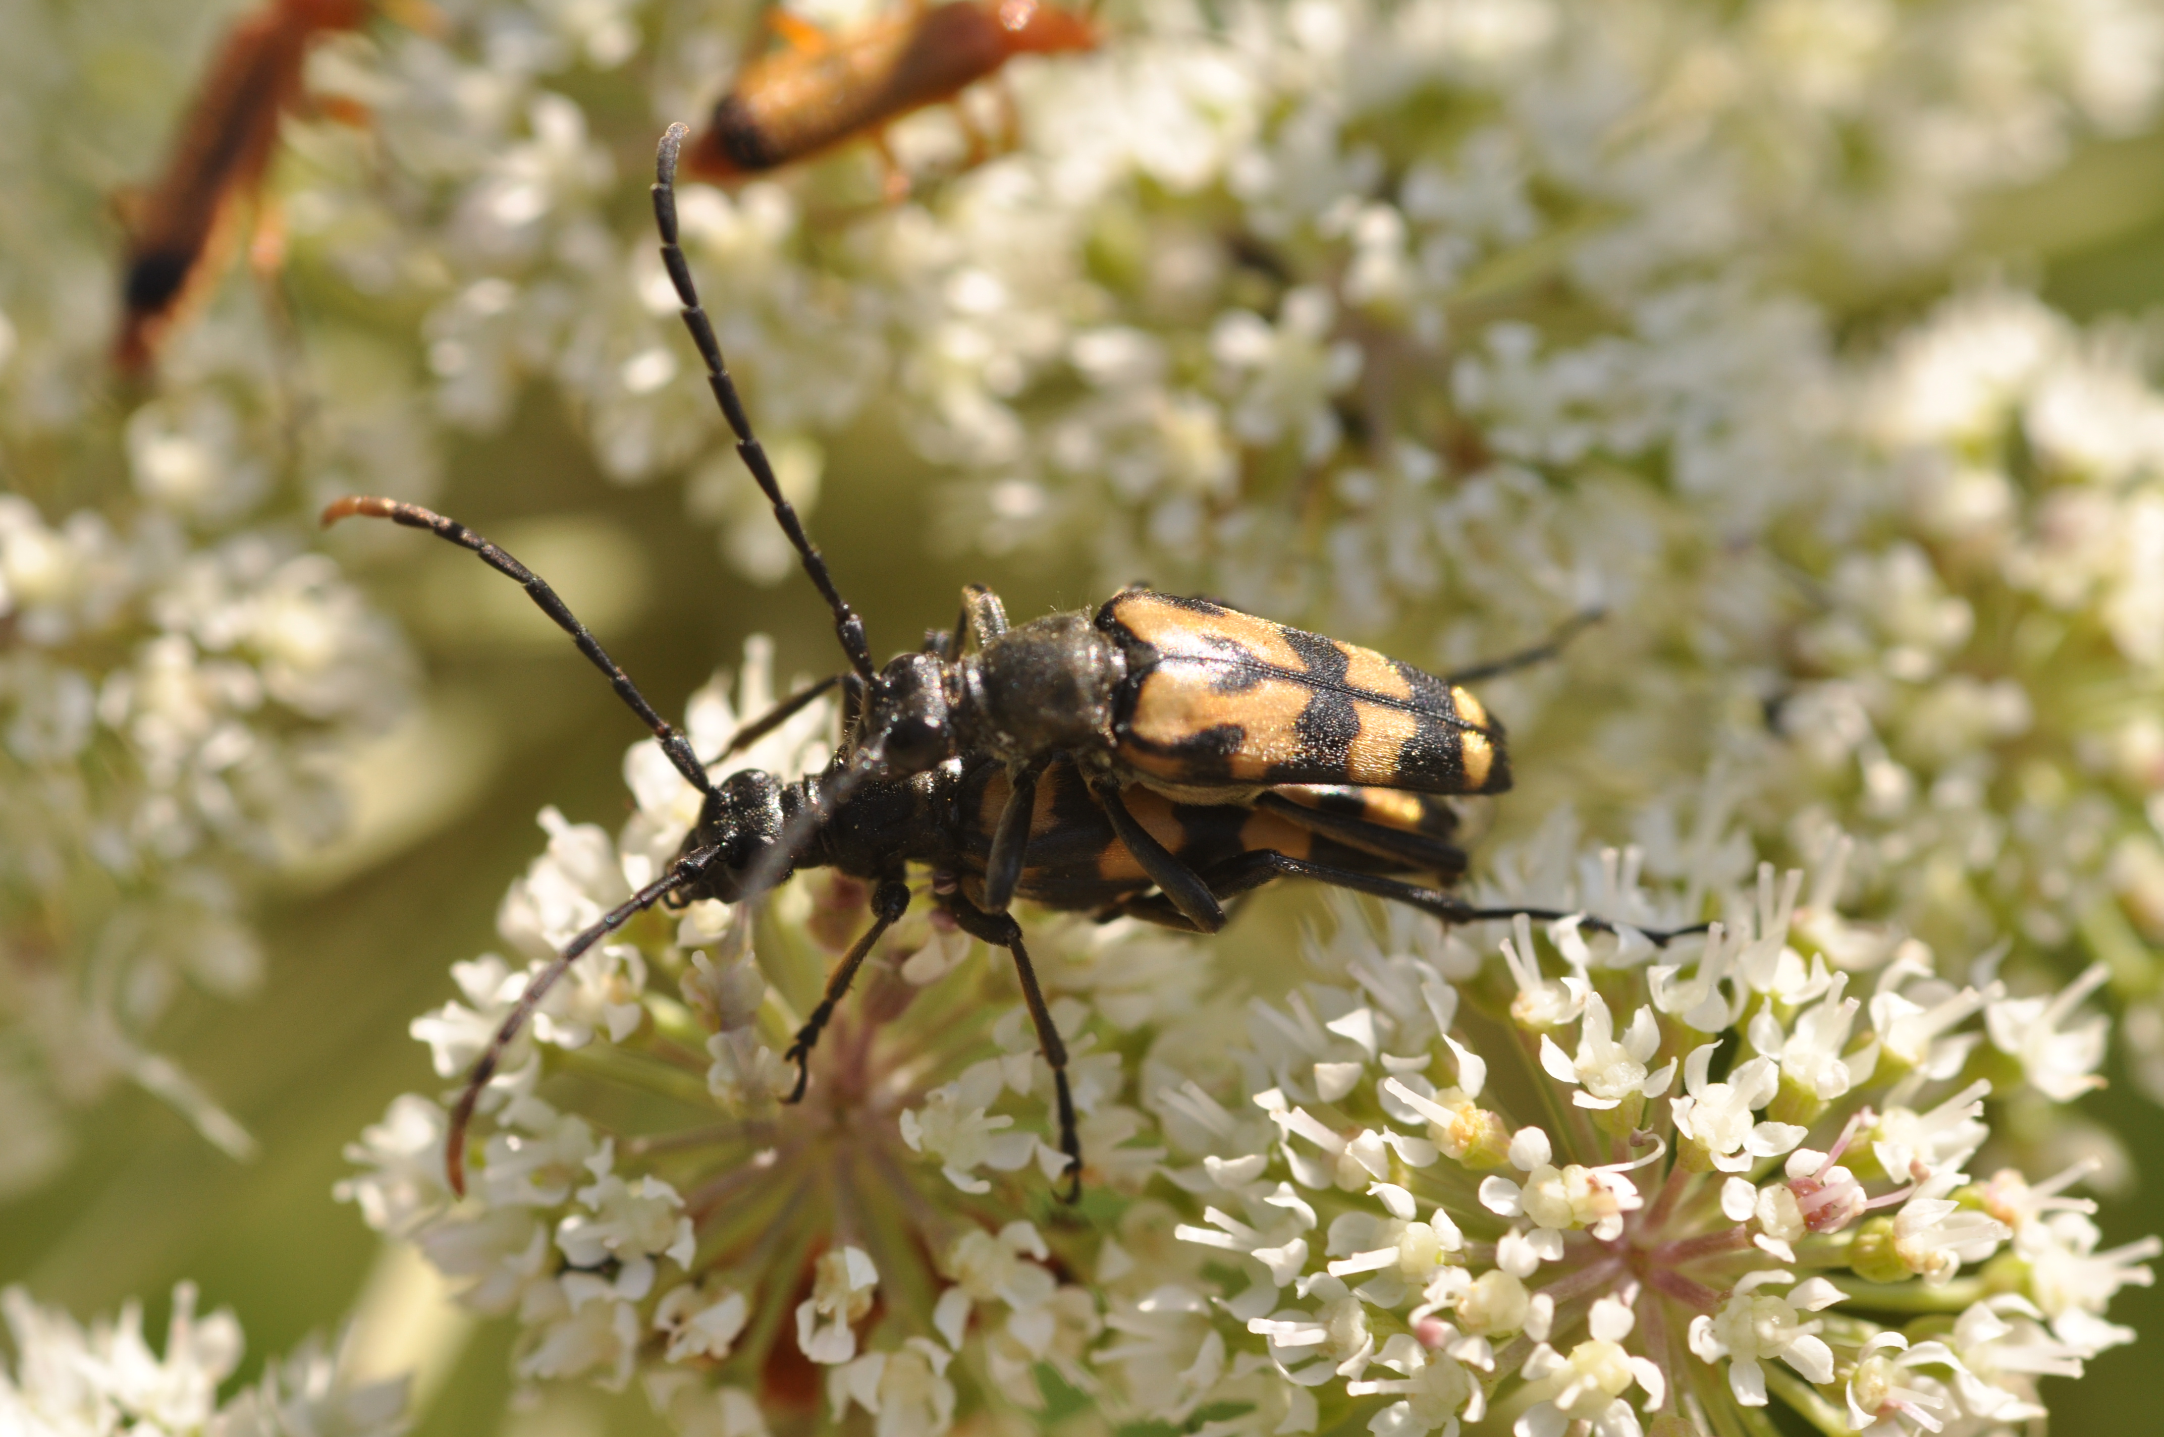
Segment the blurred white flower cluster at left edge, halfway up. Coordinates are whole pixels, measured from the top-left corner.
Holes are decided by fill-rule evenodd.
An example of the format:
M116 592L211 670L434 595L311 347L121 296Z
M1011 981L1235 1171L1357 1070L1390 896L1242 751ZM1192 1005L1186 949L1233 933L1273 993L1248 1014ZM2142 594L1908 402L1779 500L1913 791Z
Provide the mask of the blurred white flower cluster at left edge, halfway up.
M190 530L160 485L216 485L247 448L169 418L130 420L132 496L48 517L0 493L0 1192L54 1171L61 1110L117 1078L249 1147L154 1028L182 985L255 985L251 892L340 831L329 760L405 688L329 558L279 526Z

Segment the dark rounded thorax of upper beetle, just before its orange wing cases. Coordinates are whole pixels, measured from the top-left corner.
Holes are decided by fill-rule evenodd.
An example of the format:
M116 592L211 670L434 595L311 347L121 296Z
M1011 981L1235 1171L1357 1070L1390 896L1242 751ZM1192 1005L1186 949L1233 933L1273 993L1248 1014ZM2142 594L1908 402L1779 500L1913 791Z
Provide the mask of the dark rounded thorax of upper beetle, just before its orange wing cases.
M1006 762L1110 749L1125 673L1086 612L1032 619L956 664L956 734L965 751Z

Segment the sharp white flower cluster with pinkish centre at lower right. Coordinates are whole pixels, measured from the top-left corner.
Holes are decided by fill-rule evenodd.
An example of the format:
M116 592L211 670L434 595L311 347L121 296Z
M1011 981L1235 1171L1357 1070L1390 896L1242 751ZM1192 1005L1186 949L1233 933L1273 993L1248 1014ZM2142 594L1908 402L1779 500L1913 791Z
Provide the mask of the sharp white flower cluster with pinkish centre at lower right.
M1736 1413L1770 1400L1874 1437L2043 1418L2036 1376L2132 1340L2106 1307L2164 1251L2101 1247L2067 1195L2088 1166L1971 1175L2002 1160L1987 1102L2015 1097L1978 1073L2038 1102L2093 1082L2101 1047L2064 1041L2090 985L1948 983L1829 885L1798 905L1803 874L1690 896L1645 866L1584 855L1567 894L1645 928L1517 920L1489 959L1342 905L1318 980L1257 1004L1266 1123L1160 1095L1205 1203L1177 1236L1216 1253L1153 1298L1216 1316L1188 1353L1259 1337L1298 1394L1275 1431L1352 1398L1385 1437L1491 1409L1517 1437L1761 1431ZM1705 933L1645 937L1707 898Z

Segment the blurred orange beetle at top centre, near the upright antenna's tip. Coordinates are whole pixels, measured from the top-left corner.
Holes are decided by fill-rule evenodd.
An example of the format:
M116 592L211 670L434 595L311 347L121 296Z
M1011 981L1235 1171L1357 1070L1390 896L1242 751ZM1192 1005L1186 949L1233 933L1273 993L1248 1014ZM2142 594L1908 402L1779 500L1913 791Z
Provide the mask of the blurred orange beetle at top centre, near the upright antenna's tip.
M954 100L1017 54L1097 48L1086 15L1039 0L915 0L844 35L779 9L770 19L788 45L751 63L684 149L684 169L701 180L740 180L857 136L885 156L887 123ZM974 128L969 136L982 154ZM889 193L907 188L885 158Z

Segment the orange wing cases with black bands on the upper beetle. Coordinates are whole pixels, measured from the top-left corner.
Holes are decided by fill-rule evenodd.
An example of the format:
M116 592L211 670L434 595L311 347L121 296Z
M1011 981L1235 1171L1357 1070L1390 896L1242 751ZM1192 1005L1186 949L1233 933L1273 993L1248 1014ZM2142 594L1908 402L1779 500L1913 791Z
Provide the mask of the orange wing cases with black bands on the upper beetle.
M1374 649L1153 591L1114 595L1097 628L1127 654L1119 757L1151 779L1510 788L1502 725L1480 701Z

